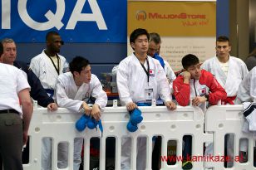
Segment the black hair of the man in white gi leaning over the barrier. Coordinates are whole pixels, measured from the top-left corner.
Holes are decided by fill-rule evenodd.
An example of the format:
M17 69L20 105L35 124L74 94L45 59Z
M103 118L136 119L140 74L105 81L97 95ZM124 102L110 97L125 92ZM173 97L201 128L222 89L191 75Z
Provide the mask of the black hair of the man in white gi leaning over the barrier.
M80 73L81 70L88 65L90 65L90 62L86 58L82 56L75 56L75 58L73 58L73 60L69 63L69 70L72 74L74 71Z

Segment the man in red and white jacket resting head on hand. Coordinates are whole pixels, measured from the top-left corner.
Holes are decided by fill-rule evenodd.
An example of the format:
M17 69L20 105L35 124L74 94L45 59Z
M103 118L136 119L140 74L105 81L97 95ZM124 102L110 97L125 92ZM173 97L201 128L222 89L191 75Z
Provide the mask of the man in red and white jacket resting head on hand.
M200 69L200 63L197 56L188 54L182 58L182 66L184 72L180 73L174 80L174 94L178 104L186 106L192 104L199 106L201 109L206 108L206 102L209 104L217 104L219 100L224 100L227 93L224 88L219 85L218 81L210 72ZM191 155L191 138L185 136L183 156ZM183 161L183 168L192 168L192 163L188 160Z

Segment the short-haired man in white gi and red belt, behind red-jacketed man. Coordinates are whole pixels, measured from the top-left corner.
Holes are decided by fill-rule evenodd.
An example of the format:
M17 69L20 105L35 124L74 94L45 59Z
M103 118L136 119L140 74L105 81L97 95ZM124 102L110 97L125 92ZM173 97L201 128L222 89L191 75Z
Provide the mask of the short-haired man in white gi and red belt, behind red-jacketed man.
M249 71L244 61L229 55L231 45L227 36L217 38L215 49L216 56L204 61L201 68L211 72L227 92L227 98L222 101L222 104L234 104L239 85ZM234 156L233 141L234 135L227 135L227 155L232 157ZM241 142L240 146L242 145L244 142ZM232 167L232 163L229 162L227 166Z

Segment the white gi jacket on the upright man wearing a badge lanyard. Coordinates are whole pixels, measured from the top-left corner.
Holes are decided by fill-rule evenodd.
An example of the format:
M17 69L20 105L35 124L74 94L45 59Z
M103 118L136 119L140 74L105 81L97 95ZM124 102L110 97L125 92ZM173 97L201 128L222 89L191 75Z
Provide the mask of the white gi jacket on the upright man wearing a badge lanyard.
M145 88L153 89L153 100L157 100L159 95L164 101L170 101L170 87L165 75L165 71L160 62L147 56L150 65L150 80L145 70L140 65L140 61L132 54L122 60L118 66L116 82L119 97L122 105L130 102L144 102ZM147 69L147 62L144 63Z

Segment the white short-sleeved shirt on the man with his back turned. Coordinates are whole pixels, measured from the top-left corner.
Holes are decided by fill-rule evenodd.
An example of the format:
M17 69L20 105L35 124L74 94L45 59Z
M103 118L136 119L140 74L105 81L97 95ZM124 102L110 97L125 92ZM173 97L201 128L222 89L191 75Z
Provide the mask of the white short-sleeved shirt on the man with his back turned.
M21 90L29 89L27 74L23 70L0 63L0 110L16 109L22 116L22 108L18 99Z

